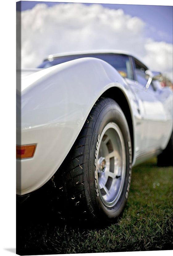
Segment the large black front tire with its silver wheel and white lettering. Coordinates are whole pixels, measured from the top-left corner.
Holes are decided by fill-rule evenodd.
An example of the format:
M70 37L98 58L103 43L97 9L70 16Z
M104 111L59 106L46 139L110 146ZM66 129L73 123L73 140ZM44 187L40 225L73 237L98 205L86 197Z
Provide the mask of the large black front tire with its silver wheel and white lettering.
M107 140L111 138L107 144L106 139L103 142L106 136ZM101 150L102 158L106 155L107 160L100 157ZM129 195L131 163L131 139L125 116L113 99L100 98L62 165L68 215L70 212L70 216L78 219L114 222L123 213Z

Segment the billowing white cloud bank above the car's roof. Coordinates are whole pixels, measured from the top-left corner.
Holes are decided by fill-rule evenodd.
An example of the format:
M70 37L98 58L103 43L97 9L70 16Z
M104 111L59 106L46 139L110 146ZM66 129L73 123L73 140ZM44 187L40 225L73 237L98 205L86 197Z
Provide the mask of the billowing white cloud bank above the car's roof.
M37 4L23 11L22 67L36 67L53 53L91 49L126 50L150 68L172 72L172 45L144 37L145 23L123 10L99 4Z

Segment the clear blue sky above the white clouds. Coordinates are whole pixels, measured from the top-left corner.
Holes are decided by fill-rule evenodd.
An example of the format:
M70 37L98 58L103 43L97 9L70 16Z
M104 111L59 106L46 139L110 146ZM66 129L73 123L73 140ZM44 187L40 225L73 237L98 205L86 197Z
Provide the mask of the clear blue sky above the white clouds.
M58 2L21 1L21 11L32 9L38 3L45 3L49 7L58 4ZM91 5L92 3L84 4ZM110 9L123 9L125 14L141 18L146 23L146 37L158 42L173 43L173 6L100 4ZM16 8L20 10L20 2L16 3Z

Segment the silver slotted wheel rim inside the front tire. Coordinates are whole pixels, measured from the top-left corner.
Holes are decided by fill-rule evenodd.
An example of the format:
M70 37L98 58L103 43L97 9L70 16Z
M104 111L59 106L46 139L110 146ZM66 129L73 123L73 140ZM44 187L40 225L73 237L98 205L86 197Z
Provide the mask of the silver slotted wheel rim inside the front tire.
M111 208L122 193L126 169L124 138L115 123L108 123L104 127L98 152L96 173L99 195L103 204Z

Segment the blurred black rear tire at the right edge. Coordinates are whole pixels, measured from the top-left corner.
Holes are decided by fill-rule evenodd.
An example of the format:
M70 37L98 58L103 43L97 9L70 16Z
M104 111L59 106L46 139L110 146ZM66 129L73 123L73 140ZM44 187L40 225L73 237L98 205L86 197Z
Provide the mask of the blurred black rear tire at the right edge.
M166 149L157 157L157 165L159 167L173 166L173 132Z

